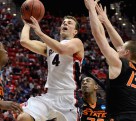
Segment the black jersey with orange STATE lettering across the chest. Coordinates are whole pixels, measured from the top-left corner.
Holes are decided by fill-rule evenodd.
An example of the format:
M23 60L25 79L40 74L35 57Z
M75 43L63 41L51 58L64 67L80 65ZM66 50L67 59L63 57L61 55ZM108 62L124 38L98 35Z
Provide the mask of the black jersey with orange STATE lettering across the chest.
M81 108L81 121L106 121L107 113L102 109L102 104L97 103L92 108L84 101Z

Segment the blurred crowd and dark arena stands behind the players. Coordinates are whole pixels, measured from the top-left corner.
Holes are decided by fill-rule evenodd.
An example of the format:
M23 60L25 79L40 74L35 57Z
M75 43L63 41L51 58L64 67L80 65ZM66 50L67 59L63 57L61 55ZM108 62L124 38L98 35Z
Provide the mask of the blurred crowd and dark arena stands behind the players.
M80 23L79 38L85 48L81 77L91 76L99 84L98 99L105 100L108 66L90 32L88 11L83 0L41 0L45 16L40 22L44 33L59 40L59 26L63 16L73 15ZM23 103L31 96L45 93L47 80L46 57L30 52L20 45L23 22L20 6L24 0L0 0L0 42L9 55L9 64L3 69L4 99ZM124 41L136 40L136 0L101 0L107 14ZM33 31L32 31L33 32ZM110 43L110 38L106 34ZM32 36L31 36L32 37ZM32 38L37 38L33 36ZM90 46L91 45L91 46ZM112 46L112 44L110 43ZM80 94L77 94L80 103ZM105 106L105 102L101 102ZM1 110L0 121L15 121L11 111Z

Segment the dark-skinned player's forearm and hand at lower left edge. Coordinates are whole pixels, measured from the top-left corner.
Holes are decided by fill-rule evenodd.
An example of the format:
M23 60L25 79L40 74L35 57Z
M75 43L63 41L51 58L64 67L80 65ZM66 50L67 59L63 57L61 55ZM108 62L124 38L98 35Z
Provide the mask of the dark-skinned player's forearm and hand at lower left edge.
M4 109L4 110L12 110L12 111L18 112L18 113L23 112L20 105L16 102L12 102L12 101L0 101L0 108Z

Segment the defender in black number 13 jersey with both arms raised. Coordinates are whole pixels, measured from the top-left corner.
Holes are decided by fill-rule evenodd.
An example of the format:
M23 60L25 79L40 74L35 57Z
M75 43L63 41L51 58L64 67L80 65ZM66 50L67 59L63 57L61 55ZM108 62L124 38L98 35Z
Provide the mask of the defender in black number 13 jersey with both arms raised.
M123 42L102 6L84 0L90 15L91 32L109 65L107 114L114 121L136 121L136 41ZM116 48L110 47L105 26Z

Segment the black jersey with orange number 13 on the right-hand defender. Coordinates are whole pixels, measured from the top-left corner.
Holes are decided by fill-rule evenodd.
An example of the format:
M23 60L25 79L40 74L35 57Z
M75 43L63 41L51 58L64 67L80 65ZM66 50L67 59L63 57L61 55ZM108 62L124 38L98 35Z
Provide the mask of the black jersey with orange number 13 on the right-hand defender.
M107 83L107 113L136 113L136 64L121 58L122 69L116 79Z

